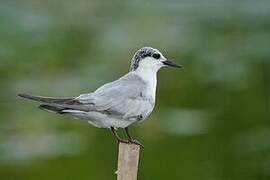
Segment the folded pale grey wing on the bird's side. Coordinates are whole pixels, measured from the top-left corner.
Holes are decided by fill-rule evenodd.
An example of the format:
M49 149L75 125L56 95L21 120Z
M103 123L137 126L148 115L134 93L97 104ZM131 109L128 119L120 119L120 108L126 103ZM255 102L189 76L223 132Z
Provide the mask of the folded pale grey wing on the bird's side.
M126 75L105 84L94 93L77 98L82 104L92 104L95 111L124 119L144 119L153 109L153 100L145 96L146 84L138 76Z

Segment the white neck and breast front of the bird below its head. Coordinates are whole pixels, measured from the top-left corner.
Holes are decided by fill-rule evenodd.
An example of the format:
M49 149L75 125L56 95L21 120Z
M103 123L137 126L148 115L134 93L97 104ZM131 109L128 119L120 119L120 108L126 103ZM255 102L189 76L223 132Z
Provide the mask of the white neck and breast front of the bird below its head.
M155 100L157 87L157 70L153 68L138 67L134 73L141 77L142 80L147 84L146 95L151 96Z

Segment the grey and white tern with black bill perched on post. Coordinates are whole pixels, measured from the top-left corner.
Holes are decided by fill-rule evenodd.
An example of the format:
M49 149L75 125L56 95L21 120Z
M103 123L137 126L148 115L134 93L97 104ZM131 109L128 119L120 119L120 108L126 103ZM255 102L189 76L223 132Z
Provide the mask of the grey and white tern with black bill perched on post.
M156 100L157 72L162 67L181 68L152 47L142 47L131 59L130 70L119 79L106 83L94 92L75 97L56 98L20 93L18 96L40 103L39 108L82 119L98 128L107 128L118 142L142 144L133 138L128 127L142 122L153 111ZM125 130L128 139L117 130Z

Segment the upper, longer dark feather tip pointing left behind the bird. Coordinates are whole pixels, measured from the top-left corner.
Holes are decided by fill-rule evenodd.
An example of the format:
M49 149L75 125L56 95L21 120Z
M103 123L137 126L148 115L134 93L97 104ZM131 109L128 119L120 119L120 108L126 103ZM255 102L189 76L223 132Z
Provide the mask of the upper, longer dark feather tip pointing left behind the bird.
M18 96L26 99L31 99L38 102L45 103L68 103L69 101L74 100L74 98L53 98L53 97L44 97L44 96L34 96L30 94L18 94Z

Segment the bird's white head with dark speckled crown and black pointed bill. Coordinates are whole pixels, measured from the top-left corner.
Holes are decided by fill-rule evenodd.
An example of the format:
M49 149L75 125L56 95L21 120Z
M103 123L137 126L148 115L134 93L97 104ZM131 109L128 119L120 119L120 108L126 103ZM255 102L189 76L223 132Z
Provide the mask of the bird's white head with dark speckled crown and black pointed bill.
M177 68L182 67L170 60L167 60L167 58L165 58L158 49L143 47L134 54L131 61L130 70L135 71L137 69L150 69L153 71L158 71L161 67L166 66Z

